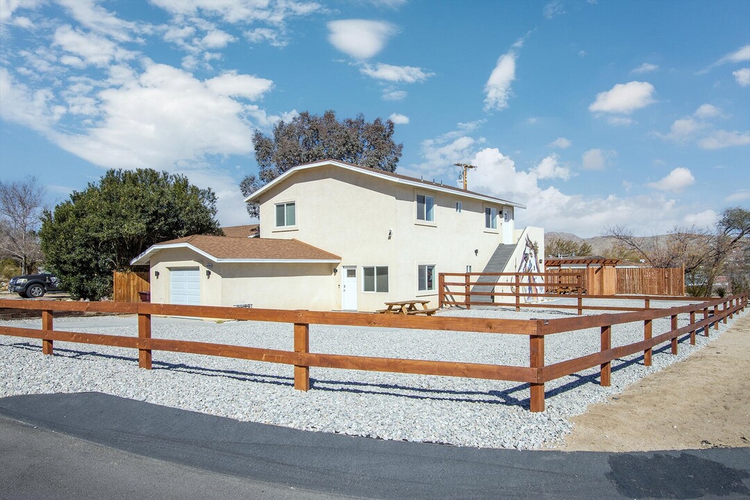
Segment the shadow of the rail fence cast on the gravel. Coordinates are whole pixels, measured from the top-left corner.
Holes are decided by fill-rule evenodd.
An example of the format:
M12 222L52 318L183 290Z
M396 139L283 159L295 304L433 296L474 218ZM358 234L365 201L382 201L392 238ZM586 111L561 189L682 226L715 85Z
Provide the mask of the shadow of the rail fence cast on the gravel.
M686 338L686 337L685 337ZM41 352L41 347L32 343L13 343L9 346L16 349L23 349L33 352ZM665 352L670 349L669 344L661 346L657 349L653 349L653 353ZM138 362L137 356L127 355L112 355L102 354L101 352L95 351L82 351L78 349L61 349L55 348L55 355L63 356L65 358L77 359L80 361L86 361L87 358L103 358L103 359L114 359L118 361L128 361L133 364ZM616 373L619 370L624 370L633 364L643 364L643 357L633 359L617 359L613 361L612 373ZM252 373L238 370L222 370L215 368L206 368L192 366L184 363L166 363L164 361L153 361L154 370L169 370L177 371L182 373L190 373L198 376L208 377L223 377L227 379L237 380L239 382L256 382L260 384L269 385L282 385L293 387L294 378L293 376L279 376L267 373ZM589 373L587 375L581 375L580 373L573 373L568 376L572 378L570 382L565 382L555 388L548 388L546 391L546 397L551 398L565 392L572 391L586 384L598 384L599 374L598 372ZM341 381L341 380L326 380L326 379L310 379L311 388L317 391L329 391L337 393L350 393L350 394L374 394L380 396L396 396L403 397L412 400L434 400L434 401L449 401L454 403L486 403L493 405L502 406L520 406L523 409L529 409L530 400L529 397L514 397L519 391L523 391L529 388L526 383L520 383L514 385L511 388L507 388L502 391L454 391L451 389L433 389L433 388L419 388L409 385L398 385L398 384L373 384L368 382L353 382L353 381ZM484 396L484 398L482 398Z

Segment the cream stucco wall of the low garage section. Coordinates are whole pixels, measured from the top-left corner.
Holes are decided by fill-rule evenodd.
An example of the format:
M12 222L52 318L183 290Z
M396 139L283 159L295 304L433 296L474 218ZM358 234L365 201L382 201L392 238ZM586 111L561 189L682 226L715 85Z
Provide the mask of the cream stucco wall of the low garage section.
M331 310L338 283L332 264L216 263L190 249L164 249L151 257L151 302L171 303L170 269L194 267L199 268L200 301L206 306Z

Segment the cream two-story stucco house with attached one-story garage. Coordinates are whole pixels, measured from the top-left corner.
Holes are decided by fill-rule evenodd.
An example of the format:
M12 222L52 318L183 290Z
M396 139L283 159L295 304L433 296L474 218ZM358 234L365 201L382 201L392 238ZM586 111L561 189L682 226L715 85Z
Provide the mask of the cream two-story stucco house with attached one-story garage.
M526 241L544 255L542 229L514 227L523 205L340 161L296 166L246 201L260 205L260 238L192 236L133 259L151 266L151 301L373 311L424 298L437 307L440 272L517 271Z

